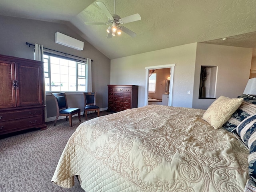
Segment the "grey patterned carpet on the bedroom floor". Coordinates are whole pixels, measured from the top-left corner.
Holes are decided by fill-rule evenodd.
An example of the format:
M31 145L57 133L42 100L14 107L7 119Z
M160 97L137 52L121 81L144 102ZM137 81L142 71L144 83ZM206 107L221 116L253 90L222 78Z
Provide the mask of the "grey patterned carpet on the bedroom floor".
M112 112L100 112L100 116ZM96 118L88 114L88 120ZM85 117L81 116L81 121ZM81 123L82 123L81 122ZM84 192L75 178L72 188L51 182L66 143L80 122L72 118L72 127L64 119L47 122L46 130L26 130L0 136L0 192Z

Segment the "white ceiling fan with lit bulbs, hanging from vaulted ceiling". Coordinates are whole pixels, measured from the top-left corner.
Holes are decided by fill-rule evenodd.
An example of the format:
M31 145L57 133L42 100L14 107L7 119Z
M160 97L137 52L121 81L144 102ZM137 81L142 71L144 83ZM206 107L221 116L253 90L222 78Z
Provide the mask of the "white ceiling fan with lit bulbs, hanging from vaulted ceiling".
M116 15L116 0L114 0L114 14L111 14L108 11L108 8L102 2L96 2L96 4L100 7L102 12L108 17L108 22L100 22L100 23L88 23L85 22L86 25L110 25L107 28L107 38L112 38L112 36L116 36L116 34L120 35L123 31L131 37L135 37L137 34L131 31L130 29L120 26L120 24L126 24L134 21L141 20L140 14L136 13L124 18L120 18L120 16Z

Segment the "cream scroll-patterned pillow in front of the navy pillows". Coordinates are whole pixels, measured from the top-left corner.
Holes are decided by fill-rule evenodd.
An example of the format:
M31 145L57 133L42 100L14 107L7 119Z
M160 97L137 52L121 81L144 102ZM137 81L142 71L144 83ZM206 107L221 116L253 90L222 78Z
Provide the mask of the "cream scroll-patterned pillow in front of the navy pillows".
M214 129L220 128L242 104L243 98L228 98L220 96L216 99L203 115Z

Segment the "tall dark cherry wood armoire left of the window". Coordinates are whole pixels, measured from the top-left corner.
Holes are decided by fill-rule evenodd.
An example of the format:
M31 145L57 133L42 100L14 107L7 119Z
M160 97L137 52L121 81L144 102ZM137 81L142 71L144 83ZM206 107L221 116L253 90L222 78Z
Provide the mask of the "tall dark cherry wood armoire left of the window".
M0 55L0 135L44 123L44 62Z

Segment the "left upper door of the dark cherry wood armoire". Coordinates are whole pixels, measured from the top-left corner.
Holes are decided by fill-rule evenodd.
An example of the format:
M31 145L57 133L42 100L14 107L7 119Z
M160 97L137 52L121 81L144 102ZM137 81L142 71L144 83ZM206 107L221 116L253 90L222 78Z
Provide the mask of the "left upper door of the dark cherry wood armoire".
M0 60L0 108L16 107L15 63Z

